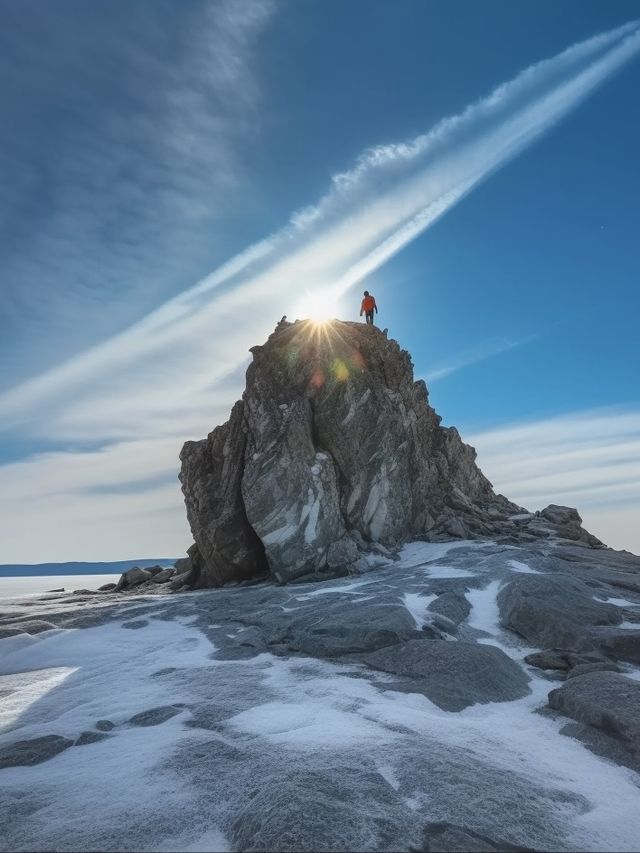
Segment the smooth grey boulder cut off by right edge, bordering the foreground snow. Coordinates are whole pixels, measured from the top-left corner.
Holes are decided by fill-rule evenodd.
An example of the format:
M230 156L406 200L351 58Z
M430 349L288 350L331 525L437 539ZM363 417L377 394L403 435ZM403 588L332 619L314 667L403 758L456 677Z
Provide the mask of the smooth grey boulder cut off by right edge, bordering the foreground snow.
M549 706L619 738L640 758L640 683L613 672L590 672L549 693Z

